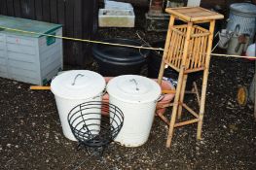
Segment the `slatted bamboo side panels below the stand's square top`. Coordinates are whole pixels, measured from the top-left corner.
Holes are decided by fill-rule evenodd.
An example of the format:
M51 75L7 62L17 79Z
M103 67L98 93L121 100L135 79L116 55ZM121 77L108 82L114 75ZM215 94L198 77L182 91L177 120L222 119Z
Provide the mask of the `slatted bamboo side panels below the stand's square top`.
M189 43L188 54L183 58L187 34L187 25L175 25L171 28L171 38L165 61L170 67L179 71L182 59L186 59L185 70L203 69L209 31L201 26L194 25ZM196 70L198 71L198 70Z

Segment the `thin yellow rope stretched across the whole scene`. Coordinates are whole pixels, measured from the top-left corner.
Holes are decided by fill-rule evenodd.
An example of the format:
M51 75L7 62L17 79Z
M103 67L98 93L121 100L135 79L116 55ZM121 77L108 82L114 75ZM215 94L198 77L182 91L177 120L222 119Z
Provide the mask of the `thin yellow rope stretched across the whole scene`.
M124 44L118 44L118 43L107 43L107 42L102 42L102 41L94 41L94 40L87 40L87 39L63 37L63 36L44 34L44 33L32 32L32 31L24 31L24 30L20 30L20 29L5 27L5 26L0 26L0 28L6 29L6 30L9 30L9 31L14 31L14 32L20 32L20 33L26 33L26 34L35 34L35 35L43 35L43 36L55 37L55 38L58 38L58 39L72 40L72 41L78 41L78 42L102 44L102 45L109 45L109 46L127 47L127 48L134 48L134 49L140 49L140 50L144 49L144 50L152 50L152 51L165 51L162 48L152 48L152 47L145 47L145 46L132 46L132 45L124 45ZM241 55L232 55L232 54L224 54L224 53L211 53L211 55L212 56L224 56L224 57L256 59L256 56L241 56Z

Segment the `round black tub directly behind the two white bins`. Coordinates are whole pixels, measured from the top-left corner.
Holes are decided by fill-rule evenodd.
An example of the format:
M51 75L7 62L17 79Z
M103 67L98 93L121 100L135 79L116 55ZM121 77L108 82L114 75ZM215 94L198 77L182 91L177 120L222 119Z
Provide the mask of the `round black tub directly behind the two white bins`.
M142 46L141 43L128 39L107 39L107 43ZM139 75L142 65L149 54L147 50L127 47L94 44L92 54L98 63L99 73L103 76Z

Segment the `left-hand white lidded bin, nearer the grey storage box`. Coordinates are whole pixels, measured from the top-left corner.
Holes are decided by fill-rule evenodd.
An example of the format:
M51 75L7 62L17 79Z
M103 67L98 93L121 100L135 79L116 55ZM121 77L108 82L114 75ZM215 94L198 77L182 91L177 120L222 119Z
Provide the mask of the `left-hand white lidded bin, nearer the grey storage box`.
M84 102L101 101L105 86L101 75L88 70L67 71L55 77L51 90L55 94L57 111L66 138L76 141L67 120L69 112ZM95 112L101 111L98 109ZM96 117L98 118L95 119L100 120L100 114Z

